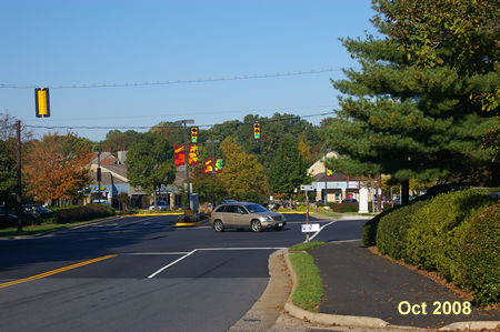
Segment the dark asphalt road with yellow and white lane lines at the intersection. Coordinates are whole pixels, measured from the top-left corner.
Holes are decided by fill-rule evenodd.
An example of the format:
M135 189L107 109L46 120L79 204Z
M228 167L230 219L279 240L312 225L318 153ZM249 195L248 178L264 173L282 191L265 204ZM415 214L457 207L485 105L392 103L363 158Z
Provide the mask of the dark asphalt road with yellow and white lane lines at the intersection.
M268 256L302 242L280 231L173 228L130 217L0 241L0 331L226 331L259 299ZM310 219L320 241L359 239L363 221Z

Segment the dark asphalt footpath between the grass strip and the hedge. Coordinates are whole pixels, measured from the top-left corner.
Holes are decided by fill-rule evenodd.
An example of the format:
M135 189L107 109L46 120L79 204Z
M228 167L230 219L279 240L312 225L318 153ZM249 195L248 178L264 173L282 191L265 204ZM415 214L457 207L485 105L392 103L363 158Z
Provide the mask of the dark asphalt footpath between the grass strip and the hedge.
M371 253L361 247L360 241L331 242L309 253L314 258L323 280L320 313L378 318L391 325L431 329L456 322L500 321L498 311L478 311L472 308L470 314L456 314L463 308L464 300L457 298L446 286ZM423 314L422 302L427 304L427 314ZM441 304L441 314L433 314L438 309L434 302ZM444 302L451 305L458 302L456 313L449 311L448 304L443 308ZM412 313L407 303L419 306ZM410 312L400 313L400 304L403 313Z

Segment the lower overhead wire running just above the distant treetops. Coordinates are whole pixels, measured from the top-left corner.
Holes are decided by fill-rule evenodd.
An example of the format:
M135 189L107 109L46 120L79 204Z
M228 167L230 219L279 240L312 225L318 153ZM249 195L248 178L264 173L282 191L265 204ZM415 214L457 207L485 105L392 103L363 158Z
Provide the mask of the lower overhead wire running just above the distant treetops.
M293 120L293 119L304 119L304 118L313 118L313 117L324 117L324 115L333 115L332 111L324 112L324 113L318 113L318 114L308 114L308 115L290 115L279 119L268 119L268 120L259 120L260 123L271 123L271 122L279 122L279 121L287 121L287 120ZM241 122L242 124L251 124L253 121L250 122ZM182 125L179 124L161 124L161 125L123 125L123 127L108 127L108 125L33 125L33 124L24 124L28 128L36 128L36 129L100 129L100 130L124 130L124 129L150 129L150 128L181 128ZM210 128L216 124L198 124L198 127L203 128Z

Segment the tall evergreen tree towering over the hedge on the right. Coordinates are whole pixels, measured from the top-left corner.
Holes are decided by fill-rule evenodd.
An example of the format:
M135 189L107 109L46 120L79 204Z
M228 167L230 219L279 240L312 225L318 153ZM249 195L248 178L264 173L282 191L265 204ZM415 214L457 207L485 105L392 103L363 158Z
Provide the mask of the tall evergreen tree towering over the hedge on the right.
M407 185L411 178L450 179L498 168L494 147L483 144L498 123L491 108L498 47L480 40L491 40L490 27L481 26L489 19L470 2L374 1L372 22L386 38L343 40L361 69L346 70L347 79L333 82L344 95L327 134L346 157L329 167L388 173ZM460 8L443 11L452 6ZM457 26L462 17L473 33ZM459 42L460 36L468 42ZM474 100L481 95L481 102Z

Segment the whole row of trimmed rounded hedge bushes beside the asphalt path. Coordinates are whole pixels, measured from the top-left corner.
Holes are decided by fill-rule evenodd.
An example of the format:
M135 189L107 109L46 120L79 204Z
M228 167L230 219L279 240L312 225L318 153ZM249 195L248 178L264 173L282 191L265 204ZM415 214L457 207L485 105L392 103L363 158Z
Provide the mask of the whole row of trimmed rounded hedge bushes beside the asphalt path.
M379 251L474 291L481 305L498 303L499 203L484 193L452 191L392 210L377 224Z

